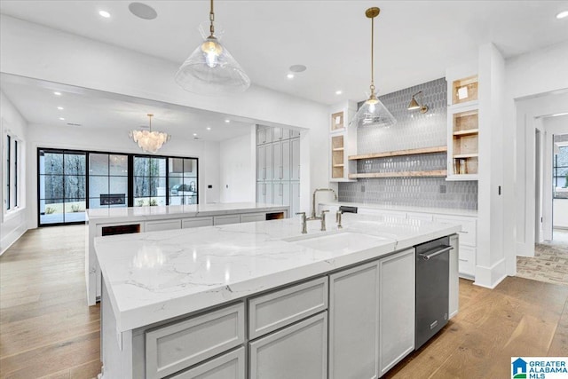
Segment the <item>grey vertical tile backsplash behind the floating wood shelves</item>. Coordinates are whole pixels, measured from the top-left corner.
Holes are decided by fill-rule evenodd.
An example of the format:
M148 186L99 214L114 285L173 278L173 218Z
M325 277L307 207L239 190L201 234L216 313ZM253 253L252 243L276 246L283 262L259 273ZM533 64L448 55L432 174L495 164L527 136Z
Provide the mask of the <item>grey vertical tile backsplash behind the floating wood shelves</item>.
M426 114L408 111L412 95L422 91ZM422 83L379 97L397 123L390 128L359 128L358 154L446 146L446 79ZM418 99L420 101L420 99ZM357 171L446 170L446 153L415 154L360 160ZM367 178L339 183L339 201L395 206L477 209L477 181L446 178Z

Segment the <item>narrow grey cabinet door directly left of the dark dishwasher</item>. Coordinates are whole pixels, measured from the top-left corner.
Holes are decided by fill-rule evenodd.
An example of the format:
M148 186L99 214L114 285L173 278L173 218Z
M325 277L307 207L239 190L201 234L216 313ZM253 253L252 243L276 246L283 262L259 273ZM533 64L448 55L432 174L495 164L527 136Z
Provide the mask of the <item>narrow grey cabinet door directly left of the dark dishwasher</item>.
M414 249L379 261L380 376L414 351L415 264Z

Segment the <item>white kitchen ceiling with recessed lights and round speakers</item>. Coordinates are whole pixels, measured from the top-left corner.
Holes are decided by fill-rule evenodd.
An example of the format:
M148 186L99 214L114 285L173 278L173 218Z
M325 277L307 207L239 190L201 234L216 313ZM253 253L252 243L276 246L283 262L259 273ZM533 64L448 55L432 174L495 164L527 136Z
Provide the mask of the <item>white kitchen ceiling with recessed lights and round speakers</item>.
M154 7L155 20L133 16L129 1L3 0L0 12L181 63L201 42L198 27L208 20L209 1L142 2ZM364 13L371 6L381 8L375 21L379 95L442 77L446 67L477 59L477 47L483 43L495 43L510 58L568 40L568 19L555 18L557 12L568 10L568 1L217 0L215 12L217 30L225 30L225 46L252 83L334 104L367 96L370 21ZM103 9L111 13L110 19L99 16ZM308 68L288 80L288 67L295 64ZM337 90L343 94L335 95ZM22 97L43 101L39 93L26 91L6 89L11 99L9 92L21 92ZM137 113L139 118L141 109L122 106L114 103L118 114ZM87 115L108 107L112 105L101 100L99 107L77 119L100 122ZM144 109L142 114L147 113ZM155 113L156 128L170 122ZM113 116L107 118L112 127ZM143 123L138 119L136 125Z

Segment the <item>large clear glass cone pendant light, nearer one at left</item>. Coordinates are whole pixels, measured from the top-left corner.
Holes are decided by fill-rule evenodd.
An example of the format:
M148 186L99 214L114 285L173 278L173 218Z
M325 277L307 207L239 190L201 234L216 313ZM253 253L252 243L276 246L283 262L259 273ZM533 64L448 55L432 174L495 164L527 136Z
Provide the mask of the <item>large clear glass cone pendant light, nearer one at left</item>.
M215 36L213 0L209 11L209 36L203 35L201 43L177 70L175 79L185 91L202 95L226 92L243 92L250 86L250 79L241 65Z

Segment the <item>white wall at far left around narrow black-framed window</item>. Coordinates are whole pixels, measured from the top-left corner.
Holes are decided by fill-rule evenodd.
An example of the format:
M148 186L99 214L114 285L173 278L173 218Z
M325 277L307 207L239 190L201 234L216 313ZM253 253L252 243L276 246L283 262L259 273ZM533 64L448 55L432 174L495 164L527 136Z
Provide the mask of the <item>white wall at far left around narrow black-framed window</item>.
M20 236L26 232L28 217L26 212L26 201L25 194L28 192L26 178L28 177L27 167L29 167L29 161L20 161L20 201L19 209L14 209L11 212L4 213L4 145L6 141L6 134L10 134L12 138L17 138L20 141L25 141L28 138L28 122L21 116L18 110L12 105L10 99L8 99L4 92L0 91L0 136L2 141L0 143L0 157L3 162L2 175L0 175L0 204L2 204L2 210L0 210L0 255L4 253L6 249L12 245L12 243L20 238ZM23 151L21 149L24 148ZM20 146L20 157L25 157L25 145ZM20 158L21 159L21 158ZM29 191L33 192L33 191Z

